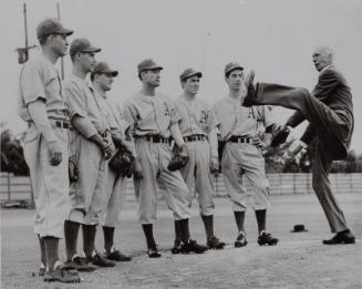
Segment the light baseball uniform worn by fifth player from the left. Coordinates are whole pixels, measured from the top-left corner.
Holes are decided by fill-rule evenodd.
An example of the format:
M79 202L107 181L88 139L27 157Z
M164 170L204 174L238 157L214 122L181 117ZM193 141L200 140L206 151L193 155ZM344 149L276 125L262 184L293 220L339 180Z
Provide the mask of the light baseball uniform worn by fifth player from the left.
M195 184L200 214L210 216L214 213L214 184L210 173L211 147L208 134L217 123L209 106L198 99L186 101L184 96L179 96L175 101L175 106L180 116L178 125L189 155L186 166L180 169L189 190L189 206L192 206ZM217 156L216 148L214 152Z

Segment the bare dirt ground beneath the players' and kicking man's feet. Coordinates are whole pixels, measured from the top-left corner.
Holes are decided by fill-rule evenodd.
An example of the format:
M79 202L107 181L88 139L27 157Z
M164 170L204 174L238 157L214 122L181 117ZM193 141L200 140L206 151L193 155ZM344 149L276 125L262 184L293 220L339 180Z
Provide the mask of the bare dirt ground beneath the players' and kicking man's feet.
M280 239L278 246L259 247L252 211L247 213L248 246L234 248L237 235L230 204L216 199L215 231L228 245L224 250L203 255L172 255L172 214L159 204L155 236L162 258L149 259L145 240L136 223L136 204L128 200L116 228L117 248L133 256L111 269L82 273L79 285L44 283L33 277L38 270L39 249L32 233L33 211L1 210L1 288L362 288L362 194L337 196L351 229L355 245L323 246L332 235L314 195L271 196L268 229ZM194 204L190 219L192 237L205 242L203 223ZM308 231L291 233L294 224L304 224ZM103 233L97 234L102 250ZM82 240L79 240L81 248ZM61 242L64 256L64 242Z

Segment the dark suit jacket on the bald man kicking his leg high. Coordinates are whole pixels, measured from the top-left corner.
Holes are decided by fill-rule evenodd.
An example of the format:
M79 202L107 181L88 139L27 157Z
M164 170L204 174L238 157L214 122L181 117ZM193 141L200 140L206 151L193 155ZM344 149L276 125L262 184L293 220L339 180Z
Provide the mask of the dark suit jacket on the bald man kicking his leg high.
M333 159L345 158L354 127L352 94L345 79L333 65L330 65L319 74L318 82L311 94L333 110L342 120L343 124L331 127L338 141L334 147L332 146L334 149L331 149L331 156ZM294 127L302 121L304 121L304 117L297 111L287 121L287 124ZM310 144L316 136L313 125L310 124L304 131L301 141Z

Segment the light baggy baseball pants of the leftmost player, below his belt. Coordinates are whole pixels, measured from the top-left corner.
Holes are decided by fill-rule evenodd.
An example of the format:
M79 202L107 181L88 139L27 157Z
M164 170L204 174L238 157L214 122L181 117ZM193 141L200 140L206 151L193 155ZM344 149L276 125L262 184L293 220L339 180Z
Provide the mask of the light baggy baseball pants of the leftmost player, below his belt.
M40 237L63 237L64 220L69 213L69 142L68 130L54 128L62 149L62 162L49 163L46 141L31 124L24 140L24 158L30 169L35 202L34 233Z

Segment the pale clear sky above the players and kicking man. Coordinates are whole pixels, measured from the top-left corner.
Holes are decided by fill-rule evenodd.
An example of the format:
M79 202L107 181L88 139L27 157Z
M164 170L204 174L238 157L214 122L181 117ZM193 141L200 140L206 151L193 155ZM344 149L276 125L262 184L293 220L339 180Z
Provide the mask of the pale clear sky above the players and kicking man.
M56 1L27 2L29 45L38 44L35 28L56 17ZM97 61L120 71L110 97L122 102L139 90L137 64L152 58L164 66L159 91L182 94L186 68L204 73L199 96L213 105L228 94L224 68L239 62L256 71L256 81L309 90L318 79L312 63L317 47L330 45L335 65L352 89L355 128L351 148L362 153L362 1L360 0L60 0L69 38L87 38L102 48ZM17 115L20 64L24 47L23 1L0 0L0 122L14 133L25 130ZM38 45L39 47L39 45ZM31 50L30 58L40 53ZM65 78L71 71L64 58ZM291 111L273 110L282 124ZM306 123L293 132L300 135Z

